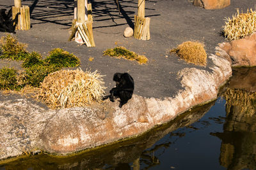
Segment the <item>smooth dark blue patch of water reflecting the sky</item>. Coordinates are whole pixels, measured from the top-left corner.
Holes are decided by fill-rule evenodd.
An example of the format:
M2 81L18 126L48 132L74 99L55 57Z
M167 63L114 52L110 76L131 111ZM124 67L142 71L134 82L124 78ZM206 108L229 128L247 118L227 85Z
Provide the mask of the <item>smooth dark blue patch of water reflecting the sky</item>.
M150 169L225 169L219 163L221 140L212 136L214 132L223 132L225 102L219 98L198 122L170 132L148 148L150 151L157 145L170 143L168 148L154 151L159 164ZM142 169L147 167L146 164L141 165Z

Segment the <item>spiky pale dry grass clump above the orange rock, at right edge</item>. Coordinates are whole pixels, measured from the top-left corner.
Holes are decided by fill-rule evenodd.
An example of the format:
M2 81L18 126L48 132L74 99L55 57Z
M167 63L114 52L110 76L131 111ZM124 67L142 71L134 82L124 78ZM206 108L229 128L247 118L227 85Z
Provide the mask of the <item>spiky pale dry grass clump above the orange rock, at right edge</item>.
M237 9L236 15L232 18L225 18L224 36L228 41L233 39L244 38L256 31L256 11L247 10L247 13L239 13Z

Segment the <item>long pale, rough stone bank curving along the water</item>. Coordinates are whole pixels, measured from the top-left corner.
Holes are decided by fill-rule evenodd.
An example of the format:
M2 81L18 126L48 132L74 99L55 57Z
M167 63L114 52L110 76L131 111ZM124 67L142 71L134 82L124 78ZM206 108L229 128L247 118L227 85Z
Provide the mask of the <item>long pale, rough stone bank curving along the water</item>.
M48 110L29 99L0 104L0 159L43 149L74 153L130 138L173 120L189 108L216 99L218 89L231 76L226 59L211 55L210 71L185 68L179 72L184 87L176 96L157 99L134 95L122 109L118 101L90 107ZM203 83L204 82L204 83Z

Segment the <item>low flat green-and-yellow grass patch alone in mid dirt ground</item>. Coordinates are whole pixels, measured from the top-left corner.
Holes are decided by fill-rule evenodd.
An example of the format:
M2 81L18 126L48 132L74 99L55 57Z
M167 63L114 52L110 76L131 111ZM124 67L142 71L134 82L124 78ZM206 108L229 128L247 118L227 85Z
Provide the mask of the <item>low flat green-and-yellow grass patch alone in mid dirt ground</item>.
M136 60L140 64L145 64L148 62L145 55L138 55L135 52L127 50L124 46L116 46L115 48L110 48L104 51L104 55L109 55L111 57L124 58L127 60Z

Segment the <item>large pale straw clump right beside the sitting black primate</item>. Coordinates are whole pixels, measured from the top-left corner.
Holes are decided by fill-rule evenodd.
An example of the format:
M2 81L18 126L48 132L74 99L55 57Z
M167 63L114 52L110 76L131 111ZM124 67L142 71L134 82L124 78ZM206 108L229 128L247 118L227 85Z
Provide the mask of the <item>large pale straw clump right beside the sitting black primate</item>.
M52 108L70 108L100 102L104 89L102 75L97 71L62 70L45 77L38 97Z

